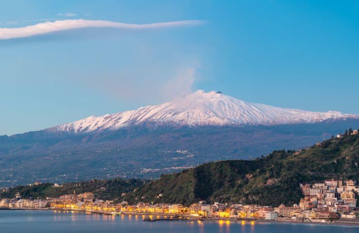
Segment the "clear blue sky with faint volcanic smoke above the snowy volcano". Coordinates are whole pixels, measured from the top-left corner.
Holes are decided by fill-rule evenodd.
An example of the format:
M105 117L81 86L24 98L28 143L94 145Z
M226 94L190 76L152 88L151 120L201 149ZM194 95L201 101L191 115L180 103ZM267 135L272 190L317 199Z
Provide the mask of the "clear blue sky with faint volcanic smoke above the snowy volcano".
M196 89L359 114L358 12L356 1L1 1L0 28L66 19L202 23L0 39L0 135Z

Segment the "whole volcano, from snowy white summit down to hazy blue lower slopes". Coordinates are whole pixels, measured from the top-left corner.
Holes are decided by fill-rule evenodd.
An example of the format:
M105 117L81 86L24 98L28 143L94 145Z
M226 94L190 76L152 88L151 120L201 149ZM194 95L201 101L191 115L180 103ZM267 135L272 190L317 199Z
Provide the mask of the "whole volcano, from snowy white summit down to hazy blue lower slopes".
M197 91L135 111L0 136L0 186L158 178L202 163L254 159L358 129L357 115L253 104Z

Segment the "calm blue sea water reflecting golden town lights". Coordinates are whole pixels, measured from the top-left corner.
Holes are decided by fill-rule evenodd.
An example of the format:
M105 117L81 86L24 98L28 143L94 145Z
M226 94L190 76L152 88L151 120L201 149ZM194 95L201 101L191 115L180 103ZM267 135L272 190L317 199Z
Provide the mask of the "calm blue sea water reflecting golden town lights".
M157 217L157 216L154 216ZM160 216L158 216L160 217ZM359 227L241 221L144 222L143 216L0 210L0 233L358 233Z

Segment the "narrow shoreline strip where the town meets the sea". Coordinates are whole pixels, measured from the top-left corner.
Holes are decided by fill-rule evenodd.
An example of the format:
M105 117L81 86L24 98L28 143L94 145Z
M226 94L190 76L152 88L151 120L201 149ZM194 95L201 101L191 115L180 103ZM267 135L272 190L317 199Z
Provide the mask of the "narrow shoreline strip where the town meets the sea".
M239 218L199 218L191 215L179 215L179 214L164 214L164 213L145 213L145 212L121 212L113 214L110 212L101 212L101 211L84 211L84 210L65 210L65 209L50 209L50 208L40 208L40 209L0 209L1 210L42 210L42 211L59 211L59 212L81 212L81 213L91 213L91 214L100 214L100 215L135 215L135 216L180 216L186 219L180 219L179 221L236 221L236 222L260 222L260 223L284 223L284 224L307 224L307 225L324 225L324 226L342 226L342 227L359 227L359 221L342 221L337 220L334 222L315 222L315 221L295 221L293 219L281 219L281 220L268 220L268 219L239 219Z

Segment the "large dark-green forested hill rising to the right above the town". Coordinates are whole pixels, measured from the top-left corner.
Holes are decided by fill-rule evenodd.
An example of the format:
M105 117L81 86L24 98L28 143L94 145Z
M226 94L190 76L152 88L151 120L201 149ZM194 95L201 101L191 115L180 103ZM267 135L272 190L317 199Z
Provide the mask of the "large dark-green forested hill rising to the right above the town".
M359 137L344 135L301 152L275 150L256 160L207 163L160 179L129 193L130 202L190 204L198 200L277 206L298 203L299 183L359 180ZM270 178L278 179L266 185ZM162 194L162 195L160 195Z

